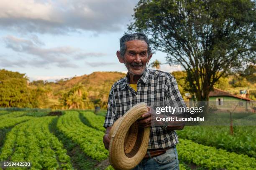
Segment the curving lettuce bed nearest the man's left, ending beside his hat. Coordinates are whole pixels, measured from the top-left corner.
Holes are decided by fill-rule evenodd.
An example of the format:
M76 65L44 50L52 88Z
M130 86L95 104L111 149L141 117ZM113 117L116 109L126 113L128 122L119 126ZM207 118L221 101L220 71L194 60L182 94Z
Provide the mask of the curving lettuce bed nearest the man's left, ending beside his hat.
M105 160L108 150L102 143L104 133L84 125L79 119L79 112L67 111L59 117L58 130L80 146L83 152L94 160Z

